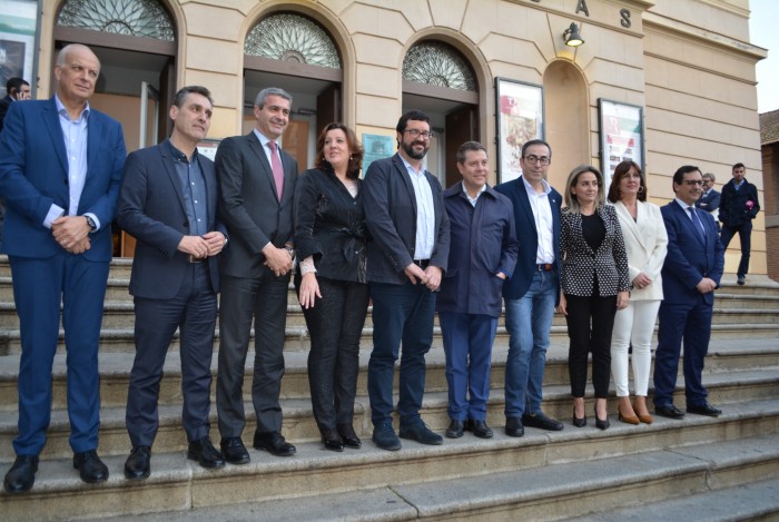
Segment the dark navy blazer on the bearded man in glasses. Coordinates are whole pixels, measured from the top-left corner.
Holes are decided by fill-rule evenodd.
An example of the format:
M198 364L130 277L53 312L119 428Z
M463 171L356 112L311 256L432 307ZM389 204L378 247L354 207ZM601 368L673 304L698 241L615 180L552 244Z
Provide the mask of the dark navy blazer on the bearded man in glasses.
M446 272L448 264L448 217L438 180L425 170L433 190L436 238L430 264ZM416 245L416 197L401 157L378 159L365 174L365 221L373 240L368 244L368 280L403 285L403 269L414 260Z

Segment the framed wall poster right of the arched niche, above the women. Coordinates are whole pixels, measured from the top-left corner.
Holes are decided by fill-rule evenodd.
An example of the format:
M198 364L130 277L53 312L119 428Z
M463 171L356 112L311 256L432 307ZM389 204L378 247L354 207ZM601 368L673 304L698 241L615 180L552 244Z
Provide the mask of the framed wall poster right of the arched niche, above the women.
M644 169L643 108L619 101L598 99L598 120L601 135L601 173L611 184L614 168L621 161L635 161Z

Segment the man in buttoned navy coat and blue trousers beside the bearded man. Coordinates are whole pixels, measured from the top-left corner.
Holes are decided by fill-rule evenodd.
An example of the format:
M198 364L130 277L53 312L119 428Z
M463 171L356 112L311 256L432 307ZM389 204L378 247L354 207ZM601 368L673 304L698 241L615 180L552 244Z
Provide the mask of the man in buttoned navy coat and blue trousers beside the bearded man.
M446 436L457 439L469 430L490 439L492 343L503 282L514 272L519 243L511 200L486 184L490 164L484 146L461 145L457 169L463 180L444 190L450 255L436 304L446 354L451 418Z

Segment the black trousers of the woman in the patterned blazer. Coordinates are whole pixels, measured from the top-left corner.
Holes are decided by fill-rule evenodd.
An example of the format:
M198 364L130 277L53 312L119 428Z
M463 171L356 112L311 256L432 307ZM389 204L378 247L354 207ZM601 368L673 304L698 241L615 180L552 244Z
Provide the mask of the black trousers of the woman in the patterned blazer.
M605 297L565 294L568 304L568 371L571 395L583 397L586 387L588 354L592 353L592 385L596 398L609 396L611 373L611 331L617 314L617 296Z

